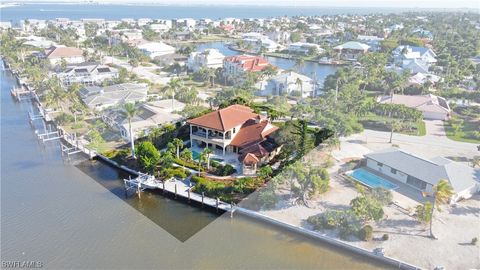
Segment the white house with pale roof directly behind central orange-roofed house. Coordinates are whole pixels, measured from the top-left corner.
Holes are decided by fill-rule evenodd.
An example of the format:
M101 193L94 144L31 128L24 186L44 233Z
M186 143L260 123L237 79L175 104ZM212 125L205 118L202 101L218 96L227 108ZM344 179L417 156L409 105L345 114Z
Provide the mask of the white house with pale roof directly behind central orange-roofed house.
M258 94L261 96L282 96L296 93L296 95L306 98L314 96L317 89L314 80L294 71L281 73L270 79L265 85L259 84Z

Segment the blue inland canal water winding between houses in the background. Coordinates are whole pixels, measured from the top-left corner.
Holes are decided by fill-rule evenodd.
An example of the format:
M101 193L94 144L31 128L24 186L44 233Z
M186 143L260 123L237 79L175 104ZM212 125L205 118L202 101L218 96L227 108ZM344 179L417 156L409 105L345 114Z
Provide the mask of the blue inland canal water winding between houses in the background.
M242 54L240 52L231 50L225 44L225 42L207 42L197 45L197 50L201 51L204 49L217 49L225 56L233 56ZM268 62L276 67L279 67L284 70L294 70L298 73L301 73L305 76L308 76L312 79L318 80L321 84L328 75L334 74L337 71L337 66L332 65L321 65L316 62L305 61L302 66L297 66L296 61L292 59L285 59L279 57L266 57Z

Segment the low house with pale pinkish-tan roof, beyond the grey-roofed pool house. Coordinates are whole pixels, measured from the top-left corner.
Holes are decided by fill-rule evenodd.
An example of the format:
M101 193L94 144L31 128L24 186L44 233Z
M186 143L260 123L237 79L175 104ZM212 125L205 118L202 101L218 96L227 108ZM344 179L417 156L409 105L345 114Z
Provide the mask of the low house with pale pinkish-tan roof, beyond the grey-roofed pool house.
M443 97L434 95L407 96L397 95L378 97L379 103L401 104L415 108L423 113L423 118L433 120L448 120L450 118L450 106Z

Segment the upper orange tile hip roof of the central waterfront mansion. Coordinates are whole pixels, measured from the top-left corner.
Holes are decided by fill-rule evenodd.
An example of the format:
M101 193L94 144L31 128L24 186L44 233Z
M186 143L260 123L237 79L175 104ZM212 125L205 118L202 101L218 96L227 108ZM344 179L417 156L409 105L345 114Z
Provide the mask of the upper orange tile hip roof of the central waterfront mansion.
M254 113L253 110L247 106L231 105L190 119L187 123L225 132L257 116L258 114Z

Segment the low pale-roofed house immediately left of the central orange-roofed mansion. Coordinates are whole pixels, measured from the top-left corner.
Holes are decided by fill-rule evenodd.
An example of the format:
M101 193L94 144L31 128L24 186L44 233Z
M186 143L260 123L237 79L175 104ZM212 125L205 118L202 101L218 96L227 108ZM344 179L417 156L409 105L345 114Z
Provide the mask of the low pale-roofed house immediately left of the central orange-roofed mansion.
M174 111L181 111L185 104L174 100ZM173 113L171 100L159 100L138 105L137 113L131 120L134 138L148 135L152 129L167 123L177 123L183 117ZM130 140L128 119L122 108L107 109L102 113L102 120L110 127L118 129L122 138Z

